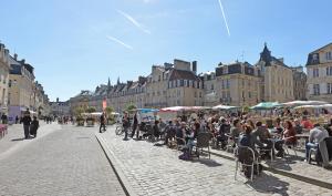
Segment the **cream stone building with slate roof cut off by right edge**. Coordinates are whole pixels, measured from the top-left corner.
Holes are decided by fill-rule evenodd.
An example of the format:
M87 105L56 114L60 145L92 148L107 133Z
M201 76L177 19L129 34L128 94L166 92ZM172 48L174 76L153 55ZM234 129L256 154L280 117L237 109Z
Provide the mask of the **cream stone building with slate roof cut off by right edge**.
M332 103L332 43L308 55L308 99Z

